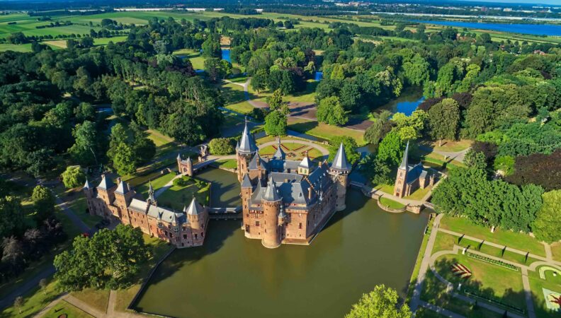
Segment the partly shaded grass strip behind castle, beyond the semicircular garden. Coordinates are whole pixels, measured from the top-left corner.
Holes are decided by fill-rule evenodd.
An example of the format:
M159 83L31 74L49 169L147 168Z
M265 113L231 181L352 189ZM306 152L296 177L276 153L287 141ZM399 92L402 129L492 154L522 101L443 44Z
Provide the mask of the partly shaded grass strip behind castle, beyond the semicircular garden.
M330 126L307 119L288 118L288 129L328 140L333 139L335 136L349 136L356 140L358 146L366 144L363 138L363 132L361 131L339 126Z

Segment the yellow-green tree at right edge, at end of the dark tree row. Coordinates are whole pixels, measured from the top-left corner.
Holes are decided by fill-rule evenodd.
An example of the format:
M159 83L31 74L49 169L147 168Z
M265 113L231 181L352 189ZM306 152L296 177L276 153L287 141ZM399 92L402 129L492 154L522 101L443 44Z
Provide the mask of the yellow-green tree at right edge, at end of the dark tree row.
M553 243L561 240L561 189L545 192L543 204L532 223L532 232L538 240Z

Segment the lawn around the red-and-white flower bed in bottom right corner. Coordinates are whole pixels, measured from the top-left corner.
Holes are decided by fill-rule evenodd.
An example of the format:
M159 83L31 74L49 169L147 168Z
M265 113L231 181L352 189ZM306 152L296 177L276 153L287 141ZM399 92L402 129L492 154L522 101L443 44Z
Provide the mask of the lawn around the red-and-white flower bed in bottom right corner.
M551 272L546 272L545 280L543 280L540 278L538 271L529 271L528 278L530 281L530 289L532 291L534 310L536 310L536 317L560 317L560 312L552 312L548 310L548 307L546 307L545 298L543 296L543 288L561 293L561 275L553 277Z

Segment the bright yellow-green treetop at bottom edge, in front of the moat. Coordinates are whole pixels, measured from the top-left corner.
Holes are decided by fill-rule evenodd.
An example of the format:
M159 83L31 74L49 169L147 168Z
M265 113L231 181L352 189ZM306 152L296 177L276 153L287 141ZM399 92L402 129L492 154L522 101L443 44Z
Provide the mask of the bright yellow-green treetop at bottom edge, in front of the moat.
M410 318L411 310L407 304L398 306L399 295L392 288L376 285L374 290L363 294L361 300L353 305L351 312L345 318Z

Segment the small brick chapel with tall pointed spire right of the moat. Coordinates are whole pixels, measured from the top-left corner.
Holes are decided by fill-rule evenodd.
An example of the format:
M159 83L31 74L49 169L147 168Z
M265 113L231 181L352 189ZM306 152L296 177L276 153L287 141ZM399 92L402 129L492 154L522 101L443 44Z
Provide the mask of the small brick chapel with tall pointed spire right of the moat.
M394 195L402 198L409 196L416 189L424 189L432 186L436 182L437 175L425 170L421 163L409 165L409 142L405 146L402 163L397 168L397 177L395 178Z

